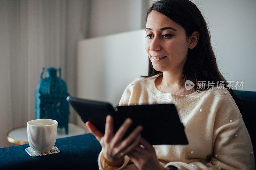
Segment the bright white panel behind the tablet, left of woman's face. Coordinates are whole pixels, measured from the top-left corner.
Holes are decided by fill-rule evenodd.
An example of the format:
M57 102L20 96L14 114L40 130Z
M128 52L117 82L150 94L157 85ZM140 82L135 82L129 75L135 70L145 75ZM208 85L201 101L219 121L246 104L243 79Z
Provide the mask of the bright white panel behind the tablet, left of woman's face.
M77 96L116 106L124 88L147 75L145 31L84 39L77 44Z

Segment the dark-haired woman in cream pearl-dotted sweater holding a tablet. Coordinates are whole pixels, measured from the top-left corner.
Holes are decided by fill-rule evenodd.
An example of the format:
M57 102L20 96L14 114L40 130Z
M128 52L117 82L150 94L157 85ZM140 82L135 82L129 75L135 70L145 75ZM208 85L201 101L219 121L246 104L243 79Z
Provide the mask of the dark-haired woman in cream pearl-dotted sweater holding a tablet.
M132 120L126 119L113 134L113 118L107 116L105 134L86 123L102 146L100 169L254 169L239 99L226 88L196 5L188 0L157 1L148 9L146 27L148 76L128 85L119 105L174 103L189 144L152 146L141 138L141 126L122 140ZM186 89L186 80L194 88ZM211 84L199 85L203 81Z

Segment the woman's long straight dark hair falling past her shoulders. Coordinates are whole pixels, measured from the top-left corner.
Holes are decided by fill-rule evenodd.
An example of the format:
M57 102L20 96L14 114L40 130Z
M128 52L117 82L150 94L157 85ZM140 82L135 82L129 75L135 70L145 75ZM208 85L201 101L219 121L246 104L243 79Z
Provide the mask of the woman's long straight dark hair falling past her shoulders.
M181 80L192 81L197 92L207 90L206 88L197 88L197 83L200 81L209 81L214 86L217 86L217 82L223 82L224 88L228 89L236 105L241 108L241 99L237 97L231 88L228 88L227 80L218 69L212 50L209 28L196 5L189 0L159 0L154 2L148 9L147 18L151 11L160 12L178 23L184 28L187 37L190 37L194 31L199 32L199 40L196 47L188 49ZM148 76L141 77L151 77L162 73L153 68L149 58L148 61ZM158 77L162 75L160 74Z

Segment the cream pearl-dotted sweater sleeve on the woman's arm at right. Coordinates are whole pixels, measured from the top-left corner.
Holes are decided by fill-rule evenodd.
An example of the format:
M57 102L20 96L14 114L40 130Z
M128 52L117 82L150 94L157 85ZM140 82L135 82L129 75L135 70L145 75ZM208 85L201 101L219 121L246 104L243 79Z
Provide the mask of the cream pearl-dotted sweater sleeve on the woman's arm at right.
M255 169L254 153L242 115L230 93L224 93L215 110L213 153L209 162L169 162L178 169Z

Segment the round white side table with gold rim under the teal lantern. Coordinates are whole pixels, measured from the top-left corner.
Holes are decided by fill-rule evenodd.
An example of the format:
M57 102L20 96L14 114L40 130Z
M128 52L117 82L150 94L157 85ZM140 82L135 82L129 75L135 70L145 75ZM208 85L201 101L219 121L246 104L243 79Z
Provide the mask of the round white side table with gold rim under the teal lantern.
M77 126L73 123L68 123L68 134L65 134L64 128L58 128L57 139L76 135L83 135L85 133L87 133L87 131L83 127ZM7 133L7 140L15 145L28 144L27 125L10 130Z

